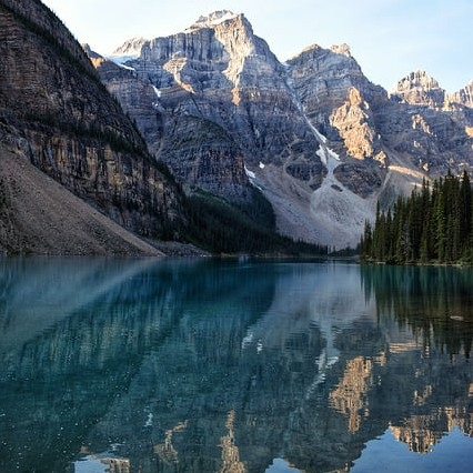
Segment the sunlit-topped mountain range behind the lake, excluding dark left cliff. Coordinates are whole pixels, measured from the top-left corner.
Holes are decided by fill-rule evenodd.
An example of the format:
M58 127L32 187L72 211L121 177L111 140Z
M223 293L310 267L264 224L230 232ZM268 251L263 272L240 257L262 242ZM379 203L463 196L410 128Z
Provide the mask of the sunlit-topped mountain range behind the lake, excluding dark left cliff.
M416 72L390 94L346 44L282 63L244 14L217 11L94 63L179 181L249 204L251 184L294 239L354 245L378 200L472 170L471 84L449 95Z

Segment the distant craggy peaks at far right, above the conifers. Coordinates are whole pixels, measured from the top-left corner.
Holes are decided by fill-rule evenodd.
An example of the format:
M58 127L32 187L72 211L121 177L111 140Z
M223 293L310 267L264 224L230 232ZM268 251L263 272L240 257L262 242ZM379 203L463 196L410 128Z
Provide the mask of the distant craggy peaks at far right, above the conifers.
M376 110L379 130L392 167L411 174L445 175L472 171L472 109L460 93L447 94L423 71L397 83L391 100Z

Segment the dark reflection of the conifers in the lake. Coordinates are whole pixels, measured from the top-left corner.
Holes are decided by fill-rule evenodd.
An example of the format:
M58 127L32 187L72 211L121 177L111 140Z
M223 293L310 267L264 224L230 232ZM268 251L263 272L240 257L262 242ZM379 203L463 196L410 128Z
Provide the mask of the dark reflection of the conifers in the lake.
M425 346L435 345L450 354L472 350L473 272L471 269L362 266L362 281L378 313L395 318L423 338Z

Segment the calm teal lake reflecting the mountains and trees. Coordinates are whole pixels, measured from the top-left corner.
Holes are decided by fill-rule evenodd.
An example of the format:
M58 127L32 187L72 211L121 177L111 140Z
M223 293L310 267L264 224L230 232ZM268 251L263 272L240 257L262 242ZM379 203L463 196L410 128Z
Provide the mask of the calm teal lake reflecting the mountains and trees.
M473 270L0 260L0 472L471 472Z

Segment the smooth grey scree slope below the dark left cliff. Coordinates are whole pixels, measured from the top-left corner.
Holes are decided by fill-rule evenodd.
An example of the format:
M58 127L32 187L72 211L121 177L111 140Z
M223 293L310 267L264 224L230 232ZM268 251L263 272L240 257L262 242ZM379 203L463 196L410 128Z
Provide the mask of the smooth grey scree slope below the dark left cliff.
M24 157L0 145L0 253L159 255Z

